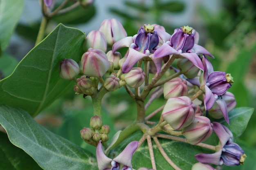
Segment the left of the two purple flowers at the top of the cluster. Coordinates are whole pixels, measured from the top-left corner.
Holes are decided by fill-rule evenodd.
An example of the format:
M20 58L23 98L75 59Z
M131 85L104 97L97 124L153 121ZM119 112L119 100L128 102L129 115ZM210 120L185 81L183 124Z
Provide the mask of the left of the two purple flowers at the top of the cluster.
M171 35L165 31L155 28L151 25L142 26L138 33L133 37L126 37L112 46L112 51L115 52L122 47L129 47L129 53L126 61L122 66L122 72L128 73L131 68L144 57L150 57L157 68L157 73L160 72L162 59L153 58L153 53L157 49L160 42L165 42Z

